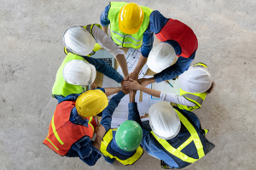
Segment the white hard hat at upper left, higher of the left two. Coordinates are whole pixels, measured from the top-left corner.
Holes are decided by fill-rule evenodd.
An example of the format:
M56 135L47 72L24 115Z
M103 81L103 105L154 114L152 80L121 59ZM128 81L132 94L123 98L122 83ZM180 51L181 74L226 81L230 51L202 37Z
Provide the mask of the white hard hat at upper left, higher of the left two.
M95 47L96 41L90 32L81 26L70 26L63 33L62 42L75 54L86 56Z

